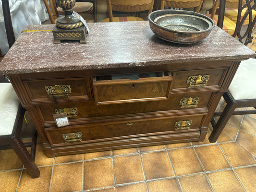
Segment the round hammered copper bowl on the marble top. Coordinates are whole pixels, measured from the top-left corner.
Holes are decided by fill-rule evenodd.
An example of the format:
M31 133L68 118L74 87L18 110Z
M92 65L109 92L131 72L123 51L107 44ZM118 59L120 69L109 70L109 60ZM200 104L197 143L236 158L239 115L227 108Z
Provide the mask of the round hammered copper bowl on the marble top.
M158 10L148 15L151 30L161 39L191 44L205 39L214 28L214 21L197 12Z

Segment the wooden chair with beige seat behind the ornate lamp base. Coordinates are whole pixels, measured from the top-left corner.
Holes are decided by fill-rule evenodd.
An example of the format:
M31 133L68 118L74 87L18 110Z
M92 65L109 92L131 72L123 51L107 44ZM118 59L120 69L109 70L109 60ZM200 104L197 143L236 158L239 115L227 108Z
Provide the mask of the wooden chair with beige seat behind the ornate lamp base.
M44 0L46 7L49 7L47 0ZM55 0L49 0L50 9L47 9L49 17L53 18L51 20L51 24L55 24L56 19L59 15L65 15L65 12L62 11L61 7L57 7ZM72 8L72 11L80 14L86 21L86 23L94 23L93 17L93 3L91 2L75 2L75 5Z

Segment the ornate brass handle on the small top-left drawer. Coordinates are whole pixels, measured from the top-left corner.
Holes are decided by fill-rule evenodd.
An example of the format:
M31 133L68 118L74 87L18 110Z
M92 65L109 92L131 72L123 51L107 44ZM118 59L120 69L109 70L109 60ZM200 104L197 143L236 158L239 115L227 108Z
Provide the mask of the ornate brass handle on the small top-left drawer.
M53 96L56 98L69 97L71 93L70 85L53 85L45 86L46 93L49 95L49 98Z

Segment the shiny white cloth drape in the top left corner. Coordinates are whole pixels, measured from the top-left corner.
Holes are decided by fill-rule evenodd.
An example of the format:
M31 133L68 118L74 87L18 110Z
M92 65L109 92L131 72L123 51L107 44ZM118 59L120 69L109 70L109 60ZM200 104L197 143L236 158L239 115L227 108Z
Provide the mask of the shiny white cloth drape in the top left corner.
M43 0L9 0L9 6L16 39L26 25L42 24L49 19ZM0 1L0 49L4 54L9 50L3 20L2 1Z

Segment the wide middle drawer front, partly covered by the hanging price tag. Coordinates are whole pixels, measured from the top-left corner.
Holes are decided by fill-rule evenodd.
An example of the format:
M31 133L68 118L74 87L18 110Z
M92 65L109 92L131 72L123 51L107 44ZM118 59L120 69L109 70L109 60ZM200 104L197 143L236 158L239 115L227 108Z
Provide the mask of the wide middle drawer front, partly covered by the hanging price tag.
M67 112L70 120L114 115L137 114L155 111L207 108L212 92L171 94L168 100L135 102L112 105L95 105L93 101L58 104L59 110ZM58 112L56 105L38 106L44 121L53 121Z

